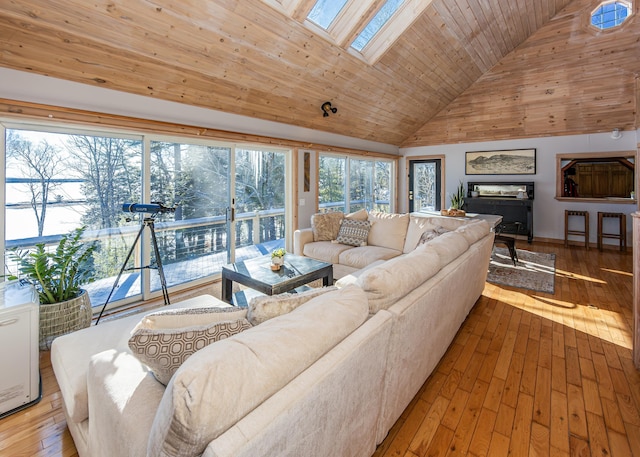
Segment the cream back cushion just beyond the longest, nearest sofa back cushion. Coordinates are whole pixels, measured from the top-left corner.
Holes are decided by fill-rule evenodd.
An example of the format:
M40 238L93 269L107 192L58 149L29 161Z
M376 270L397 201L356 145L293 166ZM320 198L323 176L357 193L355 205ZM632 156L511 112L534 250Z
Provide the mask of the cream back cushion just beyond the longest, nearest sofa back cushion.
M440 257L427 246L371 268L358 278L355 284L367 294L371 314L388 309L440 271Z

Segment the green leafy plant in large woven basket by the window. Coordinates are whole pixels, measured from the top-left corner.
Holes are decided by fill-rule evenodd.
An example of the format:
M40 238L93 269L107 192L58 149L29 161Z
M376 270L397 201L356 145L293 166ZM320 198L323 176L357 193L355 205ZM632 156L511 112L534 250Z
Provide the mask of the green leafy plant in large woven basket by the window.
M55 337L91 325L91 302L81 286L94 279L90 260L96 245L82 241L85 228L63 235L53 251L38 243L31 251L10 252L19 275L9 278L26 279L38 291L41 350L50 349Z

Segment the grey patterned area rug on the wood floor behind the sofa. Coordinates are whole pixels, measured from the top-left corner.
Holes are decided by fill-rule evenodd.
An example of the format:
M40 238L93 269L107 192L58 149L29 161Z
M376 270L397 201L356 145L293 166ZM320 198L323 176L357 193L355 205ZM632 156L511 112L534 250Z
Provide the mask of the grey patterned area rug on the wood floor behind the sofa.
M506 248L493 248L487 282L552 294L555 291L556 255L517 250L513 265Z

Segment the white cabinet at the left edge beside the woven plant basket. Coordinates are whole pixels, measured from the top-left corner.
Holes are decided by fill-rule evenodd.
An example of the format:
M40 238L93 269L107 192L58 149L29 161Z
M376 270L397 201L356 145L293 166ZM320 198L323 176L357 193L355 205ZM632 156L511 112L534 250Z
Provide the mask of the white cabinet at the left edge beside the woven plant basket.
M0 283L0 418L40 400L38 294Z

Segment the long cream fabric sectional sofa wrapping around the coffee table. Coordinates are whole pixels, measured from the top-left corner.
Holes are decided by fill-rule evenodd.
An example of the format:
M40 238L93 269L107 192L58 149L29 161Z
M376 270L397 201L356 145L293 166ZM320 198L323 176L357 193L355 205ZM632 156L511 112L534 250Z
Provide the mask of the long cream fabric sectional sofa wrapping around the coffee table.
M390 218L406 218L394 256L377 258L392 248L373 243L331 251L357 249L350 258L368 263L338 263L340 288L197 351L166 387L127 344L140 316L57 338L52 365L79 455L370 456L481 295L493 246L483 221ZM448 231L418 244L438 227ZM296 249L320 253L307 236ZM226 306L202 296L171 308Z

